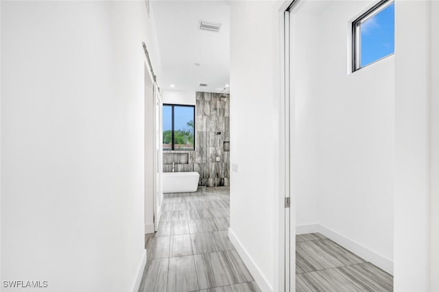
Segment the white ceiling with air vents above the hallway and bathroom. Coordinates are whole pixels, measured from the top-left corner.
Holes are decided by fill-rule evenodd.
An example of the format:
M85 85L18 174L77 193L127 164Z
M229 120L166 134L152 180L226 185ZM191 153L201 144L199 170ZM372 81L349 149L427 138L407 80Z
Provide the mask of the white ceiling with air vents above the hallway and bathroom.
M224 92L230 71L229 8L226 1L151 1L162 64L157 82L162 89ZM222 26L219 32L200 30L200 21Z

